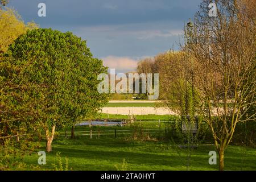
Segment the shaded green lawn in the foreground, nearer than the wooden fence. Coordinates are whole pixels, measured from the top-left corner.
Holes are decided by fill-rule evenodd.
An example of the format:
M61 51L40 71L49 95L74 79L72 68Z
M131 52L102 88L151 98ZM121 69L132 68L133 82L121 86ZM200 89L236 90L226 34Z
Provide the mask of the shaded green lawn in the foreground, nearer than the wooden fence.
M38 150L44 150L44 142ZM202 144L192 151L189 170L217 170L217 165L208 164L208 152L214 150L209 144ZM57 164L56 152L63 159L68 158L72 170L117 170L123 159L127 170L187 170L187 150L172 146L169 142L157 140L128 140L102 137L89 139L55 139L53 151L47 154L47 164L42 169L53 169ZM26 156L27 164L38 165L38 156ZM256 170L256 149L229 146L225 154L226 170Z

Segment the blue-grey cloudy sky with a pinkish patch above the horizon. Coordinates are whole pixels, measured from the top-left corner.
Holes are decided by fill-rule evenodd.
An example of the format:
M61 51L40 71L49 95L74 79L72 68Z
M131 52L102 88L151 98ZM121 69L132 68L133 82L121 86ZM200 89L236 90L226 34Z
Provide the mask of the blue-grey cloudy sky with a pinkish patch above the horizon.
M86 40L94 57L116 72L134 71L139 60L179 49L184 24L201 0L10 0L24 22L34 20ZM46 4L46 17L38 4Z

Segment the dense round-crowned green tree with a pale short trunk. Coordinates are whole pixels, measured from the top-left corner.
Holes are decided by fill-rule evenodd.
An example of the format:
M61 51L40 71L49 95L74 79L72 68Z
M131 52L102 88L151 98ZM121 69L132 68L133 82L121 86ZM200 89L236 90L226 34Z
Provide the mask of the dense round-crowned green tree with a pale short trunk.
M97 76L107 68L92 57L86 42L71 32L42 28L27 31L9 47L4 61L17 68L11 77L2 71L5 82L23 85L19 89L9 86L9 101L16 108L24 108L18 98L23 103L26 100L31 114L22 118L33 118L33 126L42 127L48 152L56 127L73 125L77 118L96 113L107 101L105 94L97 92Z

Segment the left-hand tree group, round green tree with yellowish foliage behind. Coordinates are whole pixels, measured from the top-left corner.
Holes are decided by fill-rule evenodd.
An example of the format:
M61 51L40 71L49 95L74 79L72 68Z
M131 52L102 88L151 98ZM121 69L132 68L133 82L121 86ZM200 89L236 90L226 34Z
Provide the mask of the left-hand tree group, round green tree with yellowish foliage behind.
M44 132L49 152L56 127L73 126L106 104L108 96L97 92L97 76L107 68L71 32L26 26L10 9L1 10L1 15L6 16L0 20L0 28L5 28L0 36L5 40L0 60L0 139L4 144L11 135Z

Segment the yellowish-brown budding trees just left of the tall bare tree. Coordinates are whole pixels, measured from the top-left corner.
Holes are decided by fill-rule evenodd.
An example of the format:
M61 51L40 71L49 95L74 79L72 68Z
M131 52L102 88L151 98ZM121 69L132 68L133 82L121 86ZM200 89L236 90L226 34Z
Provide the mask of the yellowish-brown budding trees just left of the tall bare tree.
M137 72L159 73L159 99L162 102L156 106L168 107L179 115L195 116L199 98L192 68L191 60L183 51L168 51L139 62Z

